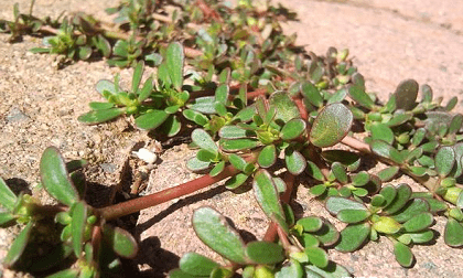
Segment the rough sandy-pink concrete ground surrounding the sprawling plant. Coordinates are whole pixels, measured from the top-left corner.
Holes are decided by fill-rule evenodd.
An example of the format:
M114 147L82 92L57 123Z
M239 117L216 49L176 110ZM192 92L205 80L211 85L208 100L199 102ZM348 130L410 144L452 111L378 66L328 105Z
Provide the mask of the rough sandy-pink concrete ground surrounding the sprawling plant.
M20 9L29 9L29 0L19 0ZM108 20L104 9L117 1L36 0L34 13L56 17L62 11L84 11ZM284 0L284 7L297 11L299 21L284 23L288 33L298 34L297 43L308 51L324 54L330 46L349 49L354 63L366 78L367 89L385 99L397 84L414 78L429 84L444 103L463 93L463 2L456 0ZM12 18L12 1L0 1L0 18ZM85 126L77 116L88 110L89 101L99 100L94 89L98 79L121 74L122 86L130 85L131 70L110 68L104 61L78 62L55 70L49 55L34 55L28 50L41 44L40 39L24 36L9 44L0 34L0 177L13 189L28 189L41 197L36 189L39 160L47 146L58 147L64 157L89 158L88 180L95 192L110 192L121 183L121 172L136 173L140 162L130 157L134 146L153 141L132 128L131 119L120 118L99 126ZM459 105L460 106L460 105ZM463 111L457 107L459 111ZM198 177L185 169L185 160L194 156L184 145L161 154L161 163L148 179L148 192ZM122 171L123 170L123 171ZM130 175L130 174L129 174ZM405 180L413 184L411 180ZM127 185L127 184L122 184ZM109 190L108 190L109 189ZM100 193L95 193L100 194ZM97 199L90 196L90 199ZM104 205L107 200L98 200ZM140 240L137 264L143 277L164 277L186 252L216 257L195 236L192 212L212 205L235 222L249 238L261 238L267 220L250 191L234 194L220 186L193 196L168 202L142 211L134 234ZM299 186L293 205L300 216L323 213ZM330 215L325 215L331 217ZM438 217L434 229L443 233ZM17 227L0 229L0 259L18 233ZM401 268L394 259L387 240L369 243L352 254L330 250L331 259L346 266L355 277L461 277L463 254L439 237L437 244L413 247L417 264ZM0 268L0 271L1 268ZM22 276L3 270L4 277Z

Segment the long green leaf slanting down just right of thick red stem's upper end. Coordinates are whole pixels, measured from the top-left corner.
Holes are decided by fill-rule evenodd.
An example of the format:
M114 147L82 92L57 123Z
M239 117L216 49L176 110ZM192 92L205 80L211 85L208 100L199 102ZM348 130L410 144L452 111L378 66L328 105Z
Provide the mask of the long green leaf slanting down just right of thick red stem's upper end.
M254 177L252 189L257 202L267 216L276 214L284 220L278 191L269 172L259 170Z

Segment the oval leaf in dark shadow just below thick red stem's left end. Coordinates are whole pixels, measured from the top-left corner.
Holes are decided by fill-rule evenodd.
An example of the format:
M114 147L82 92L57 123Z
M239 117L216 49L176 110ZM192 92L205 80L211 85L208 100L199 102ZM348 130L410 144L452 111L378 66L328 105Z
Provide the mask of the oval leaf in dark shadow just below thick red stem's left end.
M110 225L103 226L103 238L112 247L112 250L125 258L134 258L138 253L138 244L133 236L120 227Z

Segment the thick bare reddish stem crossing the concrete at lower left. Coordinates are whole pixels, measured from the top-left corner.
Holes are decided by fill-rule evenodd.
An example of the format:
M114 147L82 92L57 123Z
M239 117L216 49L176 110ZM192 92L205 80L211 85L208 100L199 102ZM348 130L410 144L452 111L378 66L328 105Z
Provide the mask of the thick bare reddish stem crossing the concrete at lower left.
M201 189L207 188L216 182L222 181L228 177L237 174L239 170L235 169L233 165L227 165L224 171L215 177L205 174L193 181L176 185L174 188L165 189L163 191L146 195L142 197L133 199L123 203L106 206L97 210L97 214L106 220L112 220L121 217L161 203L168 202L170 200L181 197L187 194L191 194Z

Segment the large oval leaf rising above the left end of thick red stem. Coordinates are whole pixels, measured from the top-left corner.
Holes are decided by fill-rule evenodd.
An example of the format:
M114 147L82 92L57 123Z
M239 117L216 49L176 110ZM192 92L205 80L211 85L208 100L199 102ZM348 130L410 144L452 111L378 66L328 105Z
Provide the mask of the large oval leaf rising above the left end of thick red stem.
M43 188L61 203L71 206L79 200L78 192L69 180L64 159L55 147L49 147L43 152L40 174Z

